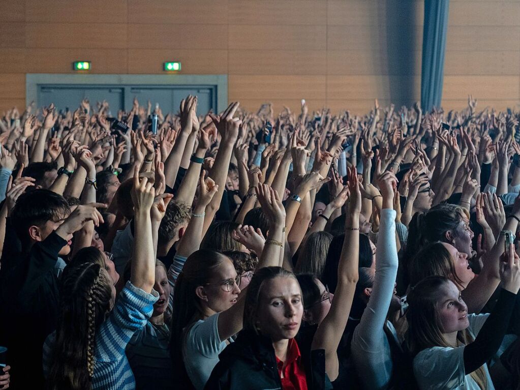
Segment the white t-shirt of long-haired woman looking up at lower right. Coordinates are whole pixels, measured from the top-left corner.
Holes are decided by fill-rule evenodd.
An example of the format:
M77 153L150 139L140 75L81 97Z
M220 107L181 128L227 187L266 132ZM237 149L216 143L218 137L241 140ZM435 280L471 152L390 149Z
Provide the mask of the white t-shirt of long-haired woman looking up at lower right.
M489 314L470 314L469 331L476 335ZM413 373L421 389L480 390L470 374L464 371L464 348L432 347L422 350L413 359ZM484 365L487 389L495 390L487 364Z

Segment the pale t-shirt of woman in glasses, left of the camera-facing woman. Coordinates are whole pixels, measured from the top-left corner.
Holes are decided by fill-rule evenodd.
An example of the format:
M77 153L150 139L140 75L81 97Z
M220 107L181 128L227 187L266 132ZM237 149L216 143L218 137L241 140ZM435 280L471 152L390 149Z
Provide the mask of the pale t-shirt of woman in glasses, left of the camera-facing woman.
M184 337L184 365L197 390L203 390L218 363L218 355L227 345L226 340L220 340L217 322L218 313L199 320L188 329Z

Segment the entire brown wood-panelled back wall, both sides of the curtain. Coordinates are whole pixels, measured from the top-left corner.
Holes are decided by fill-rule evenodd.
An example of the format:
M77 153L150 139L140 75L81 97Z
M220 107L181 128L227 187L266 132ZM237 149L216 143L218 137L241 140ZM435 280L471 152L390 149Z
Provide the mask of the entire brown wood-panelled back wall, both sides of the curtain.
M420 0L2 0L0 110L25 103L25 73L228 74L248 109L355 113L420 96ZM467 94L520 101L520 0L451 0L443 105Z

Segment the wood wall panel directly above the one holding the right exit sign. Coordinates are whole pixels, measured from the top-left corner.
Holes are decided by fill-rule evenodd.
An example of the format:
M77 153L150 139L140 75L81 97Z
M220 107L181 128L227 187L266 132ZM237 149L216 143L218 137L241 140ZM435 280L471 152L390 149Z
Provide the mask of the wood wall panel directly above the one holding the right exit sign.
M227 25L138 24L128 29L129 49L224 49Z

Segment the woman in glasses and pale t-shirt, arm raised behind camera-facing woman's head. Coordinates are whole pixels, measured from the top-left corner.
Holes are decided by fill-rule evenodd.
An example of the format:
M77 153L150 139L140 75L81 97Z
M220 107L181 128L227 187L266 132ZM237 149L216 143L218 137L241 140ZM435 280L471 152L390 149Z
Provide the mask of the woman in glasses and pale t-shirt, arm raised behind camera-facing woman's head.
M257 193L270 222L257 268L279 266L285 210L278 193L269 186L259 185ZM178 388L202 389L218 355L242 329L244 294L240 294L240 281L230 258L221 253L198 250L186 260L173 295L170 346Z

